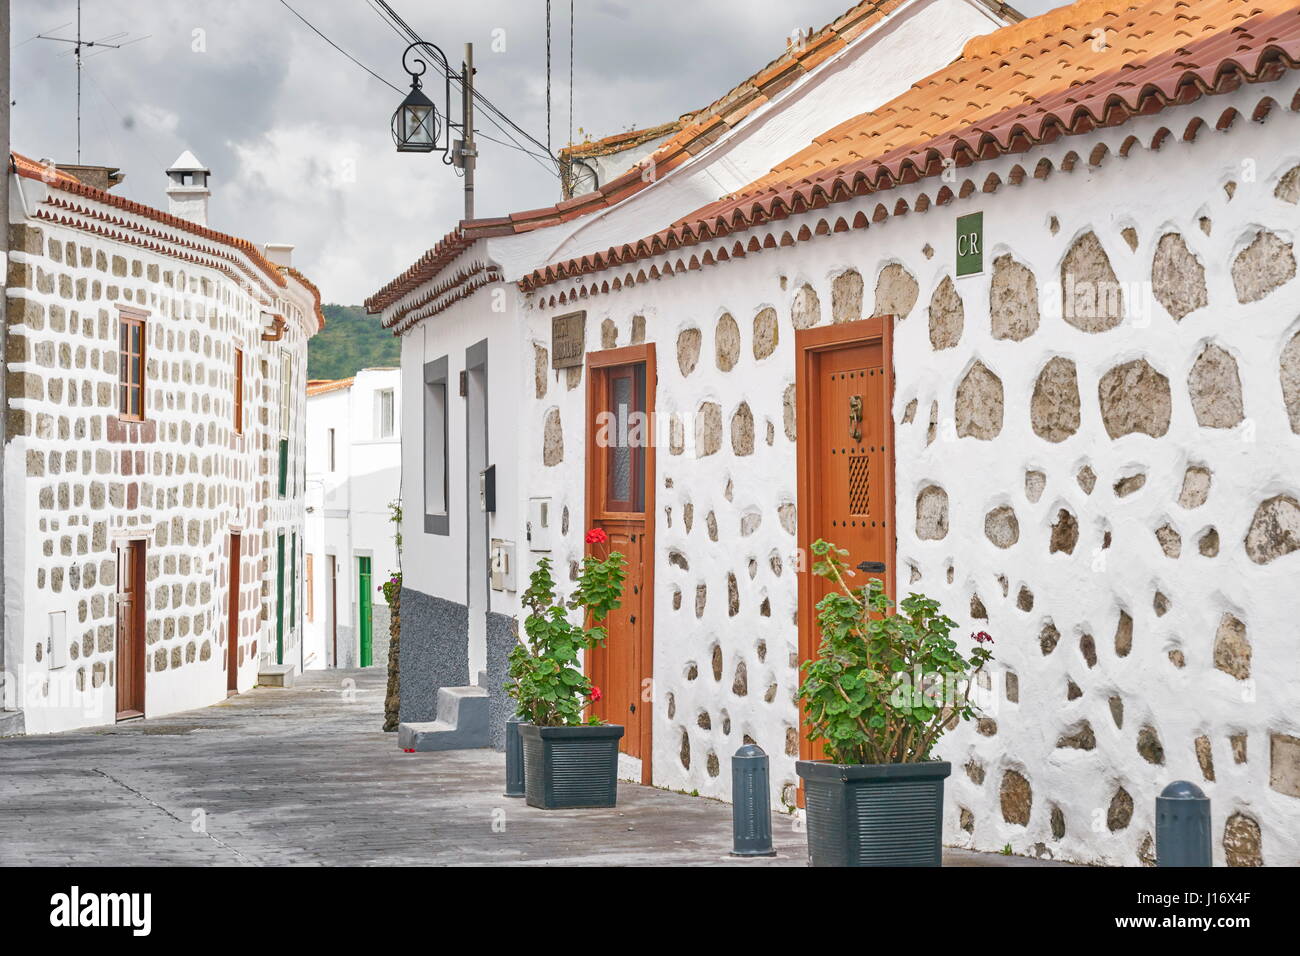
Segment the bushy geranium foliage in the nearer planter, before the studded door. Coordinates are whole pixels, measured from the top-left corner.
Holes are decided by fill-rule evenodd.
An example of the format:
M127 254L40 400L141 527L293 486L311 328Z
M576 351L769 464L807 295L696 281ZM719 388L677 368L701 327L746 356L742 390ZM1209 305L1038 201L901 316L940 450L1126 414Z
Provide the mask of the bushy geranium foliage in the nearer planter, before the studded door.
M800 687L809 739L833 763L930 760L945 730L976 715L970 688L993 639L972 635L976 646L963 657L950 636L957 623L937 601L914 593L894 611L879 578L849 584L848 551L818 540L812 554L812 572L835 591L818 602L822 644Z

